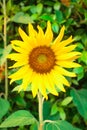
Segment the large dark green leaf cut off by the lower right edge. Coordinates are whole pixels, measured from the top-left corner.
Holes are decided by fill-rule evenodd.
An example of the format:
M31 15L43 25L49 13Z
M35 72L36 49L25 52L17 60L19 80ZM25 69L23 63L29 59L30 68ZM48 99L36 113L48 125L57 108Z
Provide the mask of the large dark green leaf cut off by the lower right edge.
M87 120L87 90L71 90L71 96L73 97L73 102L77 107L80 115Z

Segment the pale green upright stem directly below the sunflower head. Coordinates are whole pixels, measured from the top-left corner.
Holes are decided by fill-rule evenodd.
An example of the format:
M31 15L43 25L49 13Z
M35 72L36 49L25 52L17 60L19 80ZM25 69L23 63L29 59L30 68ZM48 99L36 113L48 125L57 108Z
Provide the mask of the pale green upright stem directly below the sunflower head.
M39 101L39 130L43 130L43 97L40 92L38 92L38 101Z

